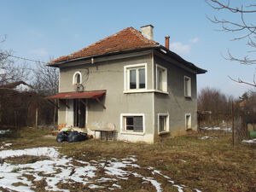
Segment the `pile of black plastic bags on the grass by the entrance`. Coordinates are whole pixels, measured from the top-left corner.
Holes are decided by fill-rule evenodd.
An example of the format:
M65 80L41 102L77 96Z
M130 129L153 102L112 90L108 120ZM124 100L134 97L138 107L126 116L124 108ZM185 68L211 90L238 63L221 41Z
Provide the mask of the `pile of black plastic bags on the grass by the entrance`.
M79 131L61 131L56 137L58 143L62 142L82 142L87 140L87 134Z

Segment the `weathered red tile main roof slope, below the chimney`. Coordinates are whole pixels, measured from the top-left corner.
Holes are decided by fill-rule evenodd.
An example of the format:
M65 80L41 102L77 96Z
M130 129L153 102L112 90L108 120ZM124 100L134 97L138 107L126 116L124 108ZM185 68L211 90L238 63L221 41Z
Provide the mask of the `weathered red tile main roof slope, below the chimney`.
M49 64L68 61L79 57L107 54L119 50L154 46L157 44L158 43L153 40L143 37L142 33L133 27L128 27L120 32L108 36L107 38L103 38L94 44L90 44L88 47L80 49L71 55L63 55L53 61L50 61Z

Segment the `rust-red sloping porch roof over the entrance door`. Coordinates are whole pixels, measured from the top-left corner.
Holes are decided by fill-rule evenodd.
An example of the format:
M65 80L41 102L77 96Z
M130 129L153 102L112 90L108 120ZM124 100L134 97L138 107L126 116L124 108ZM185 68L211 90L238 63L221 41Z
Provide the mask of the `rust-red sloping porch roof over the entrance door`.
M96 99L106 94L106 90L84 91L84 92L67 92L58 93L55 96L47 96L44 99Z

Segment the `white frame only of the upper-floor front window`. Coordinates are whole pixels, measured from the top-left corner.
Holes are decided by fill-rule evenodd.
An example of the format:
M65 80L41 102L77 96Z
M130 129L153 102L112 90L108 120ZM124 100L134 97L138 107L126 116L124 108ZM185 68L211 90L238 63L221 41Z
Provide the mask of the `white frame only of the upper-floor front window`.
M130 89L130 70L131 69L140 69L145 68L145 88L137 88L137 89ZM148 67L147 63L141 63L141 64L133 64L133 65L127 65L124 67L124 91L125 92L143 92L144 90L148 89ZM137 87L139 86L139 74L137 73Z

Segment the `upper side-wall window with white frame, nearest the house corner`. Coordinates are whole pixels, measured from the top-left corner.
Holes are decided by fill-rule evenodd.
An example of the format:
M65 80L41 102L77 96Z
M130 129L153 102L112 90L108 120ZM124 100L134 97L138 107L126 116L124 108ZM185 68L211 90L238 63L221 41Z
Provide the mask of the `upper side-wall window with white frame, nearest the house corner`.
M156 65L156 89L167 91L167 70L159 65Z

